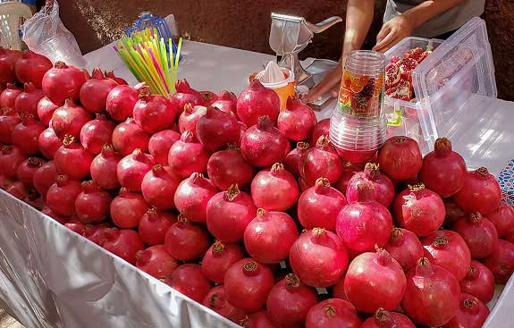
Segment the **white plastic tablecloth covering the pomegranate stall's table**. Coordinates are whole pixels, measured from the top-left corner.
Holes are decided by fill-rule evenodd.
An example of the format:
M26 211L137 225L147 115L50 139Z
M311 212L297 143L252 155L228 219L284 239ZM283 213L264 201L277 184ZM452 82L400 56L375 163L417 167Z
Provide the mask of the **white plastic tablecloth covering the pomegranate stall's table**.
M251 72L273 59L195 42L184 44L183 55L179 76L193 88L237 94L248 85ZM114 70L136 83L112 46L86 58L89 67ZM507 131L501 133L506 140L512 138ZM511 279L485 327L512 327L513 285ZM28 328L236 327L1 190L0 301Z

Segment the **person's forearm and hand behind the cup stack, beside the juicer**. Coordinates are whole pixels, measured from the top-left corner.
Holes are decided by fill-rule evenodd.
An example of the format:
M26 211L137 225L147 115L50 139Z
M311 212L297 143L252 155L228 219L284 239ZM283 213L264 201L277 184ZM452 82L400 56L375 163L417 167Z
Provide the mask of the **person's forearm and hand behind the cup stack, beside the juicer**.
M336 97L341 84L342 65L350 51L360 49L373 22L375 0L349 0L346 9L346 29L339 64L329 71L324 79L309 91L305 102L316 101L327 93Z

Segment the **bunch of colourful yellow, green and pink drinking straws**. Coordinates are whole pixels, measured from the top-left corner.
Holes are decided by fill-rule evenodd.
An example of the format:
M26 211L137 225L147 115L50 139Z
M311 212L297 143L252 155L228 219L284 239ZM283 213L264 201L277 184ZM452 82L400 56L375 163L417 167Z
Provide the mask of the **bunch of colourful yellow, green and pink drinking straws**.
M114 50L139 82L146 82L152 94L171 97L181 57L182 38L173 54L172 39L160 38L157 29L144 29L123 36ZM169 52L167 51L169 49Z

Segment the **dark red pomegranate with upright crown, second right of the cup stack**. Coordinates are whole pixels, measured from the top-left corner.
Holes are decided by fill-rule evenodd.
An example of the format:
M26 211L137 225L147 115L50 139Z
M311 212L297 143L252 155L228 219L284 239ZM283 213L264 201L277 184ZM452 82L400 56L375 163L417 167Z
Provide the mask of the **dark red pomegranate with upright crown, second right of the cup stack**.
M423 158L419 178L426 188L448 198L462 188L466 172L466 163L462 156L451 150L451 141L439 138L435 140L434 151Z

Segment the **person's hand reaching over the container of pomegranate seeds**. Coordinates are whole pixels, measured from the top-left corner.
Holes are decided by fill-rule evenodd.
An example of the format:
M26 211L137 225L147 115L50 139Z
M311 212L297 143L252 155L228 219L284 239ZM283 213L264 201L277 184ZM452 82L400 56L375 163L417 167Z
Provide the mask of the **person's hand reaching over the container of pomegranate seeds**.
M405 15L398 15L383 24L382 29L376 36L376 46L373 47L373 50L384 53L403 38L410 37L413 31L414 26L409 18Z

